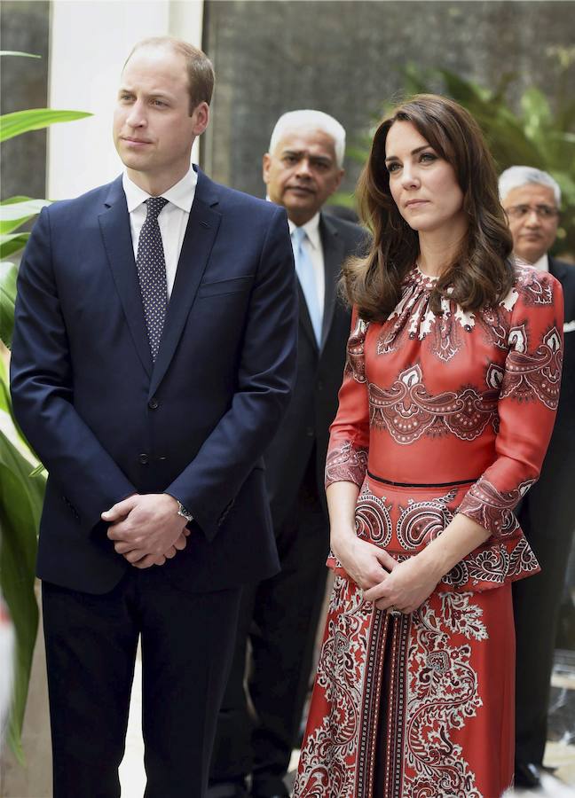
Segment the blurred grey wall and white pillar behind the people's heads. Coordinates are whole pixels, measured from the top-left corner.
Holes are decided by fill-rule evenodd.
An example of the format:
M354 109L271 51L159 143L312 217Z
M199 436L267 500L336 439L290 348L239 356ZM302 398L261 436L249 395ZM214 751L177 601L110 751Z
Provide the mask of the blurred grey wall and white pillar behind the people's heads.
M95 116L8 142L2 196L61 199L118 173L110 134L118 74L146 35L181 36L214 60L201 164L215 179L261 195L261 156L280 113L332 113L353 145L384 102L405 91L410 62L489 88L514 73L511 104L536 85L553 105L560 84L575 85L574 17L575 3L555 0L5 0L3 49L43 59L3 59L2 112L48 102ZM441 88L432 74L429 87ZM343 189L351 192L359 164L347 167Z

